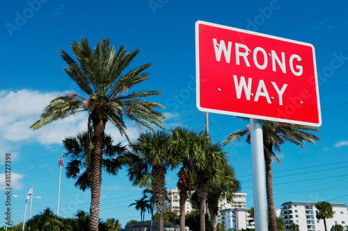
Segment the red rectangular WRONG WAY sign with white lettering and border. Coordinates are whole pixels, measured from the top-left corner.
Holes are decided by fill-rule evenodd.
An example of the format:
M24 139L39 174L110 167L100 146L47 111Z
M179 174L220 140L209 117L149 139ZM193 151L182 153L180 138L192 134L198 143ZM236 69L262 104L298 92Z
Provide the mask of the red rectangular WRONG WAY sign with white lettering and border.
M198 21L196 80L201 111L322 124L312 44Z

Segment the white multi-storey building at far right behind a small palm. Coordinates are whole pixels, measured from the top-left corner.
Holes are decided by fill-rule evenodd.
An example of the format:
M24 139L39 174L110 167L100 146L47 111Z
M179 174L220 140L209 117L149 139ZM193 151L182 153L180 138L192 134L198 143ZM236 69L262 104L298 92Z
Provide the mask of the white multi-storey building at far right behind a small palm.
M348 225L347 205L343 203L331 203L333 207L333 218L326 219L326 227L331 230L335 224L343 227ZM285 231L289 225L295 223L302 231L324 231L324 221L316 218L317 209L315 202L290 201L282 205L280 218L285 221Z

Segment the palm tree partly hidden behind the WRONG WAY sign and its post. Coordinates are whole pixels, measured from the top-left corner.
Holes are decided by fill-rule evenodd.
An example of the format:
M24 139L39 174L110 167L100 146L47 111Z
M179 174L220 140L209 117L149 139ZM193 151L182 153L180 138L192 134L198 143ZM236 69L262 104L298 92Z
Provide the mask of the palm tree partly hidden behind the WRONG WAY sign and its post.
M304 142L315 144L320 138L310 132L319 132L319 129L312 126L298 125L293 123L281 123L274 121L262 122L263 143L264 143L264 164L266 166L266 189L267 189L267 207L269 212L269 222L272 231L277 230L276 208L273 200L272 186L272 157L280 164L274 151L280 152L280 144L290 142L304 148ZM246 136L246 142L250 144L250 125L244 130L232 132L223 144L228 144Z

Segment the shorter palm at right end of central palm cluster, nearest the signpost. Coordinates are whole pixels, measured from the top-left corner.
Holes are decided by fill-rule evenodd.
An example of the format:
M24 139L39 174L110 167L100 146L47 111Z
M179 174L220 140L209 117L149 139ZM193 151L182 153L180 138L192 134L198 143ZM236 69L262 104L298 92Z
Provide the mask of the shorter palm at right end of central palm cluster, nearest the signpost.
M212 231L216 231L219 214L219 202L226 198L228 202L232 202L235 192L239 191L239 181L235 179L235 170L228 163L223 164L223 174L221 180L216 185L209 187L207 196L207 207L209 209L210 224Z

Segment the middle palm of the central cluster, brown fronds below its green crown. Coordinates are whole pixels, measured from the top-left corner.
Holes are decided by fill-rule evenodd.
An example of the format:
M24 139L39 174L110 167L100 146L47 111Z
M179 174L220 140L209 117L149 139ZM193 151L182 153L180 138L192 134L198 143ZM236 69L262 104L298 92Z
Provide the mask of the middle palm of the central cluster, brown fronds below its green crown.
M181 168L177 172L177 188L180 194L180 230L185 228L185 203L187 193L191 191L194 183L194 164L199 155L204 155L203 150L209 144L205 132L189 131L177 127L171 130L171 145L181 158Z

